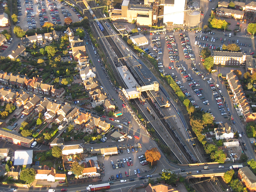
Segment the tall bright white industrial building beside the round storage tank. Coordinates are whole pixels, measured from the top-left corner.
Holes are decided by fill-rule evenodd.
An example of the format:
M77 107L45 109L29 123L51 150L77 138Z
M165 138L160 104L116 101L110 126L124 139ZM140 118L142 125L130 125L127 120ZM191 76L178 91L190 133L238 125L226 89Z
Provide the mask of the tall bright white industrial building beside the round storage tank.
M179 12L164 16L163 22L165 24L167 24L167 22L173 22L173 24L183 25L185 0L163 0L160 6L164 6L164 15Z

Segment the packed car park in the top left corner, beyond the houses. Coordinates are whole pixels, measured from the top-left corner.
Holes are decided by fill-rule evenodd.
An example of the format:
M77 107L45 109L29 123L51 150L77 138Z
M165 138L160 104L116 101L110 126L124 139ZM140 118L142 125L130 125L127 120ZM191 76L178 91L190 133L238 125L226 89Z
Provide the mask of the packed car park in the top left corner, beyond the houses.
M68 4L61 4L60 1L20 0L20 7L18 8L18 16L20 18L18 18L17 25L20 25L23 30L40 28L43 22L47 21L53 24L63 25L64 19L67 16L73 22L80 21L76 13L70 8L73 9Z

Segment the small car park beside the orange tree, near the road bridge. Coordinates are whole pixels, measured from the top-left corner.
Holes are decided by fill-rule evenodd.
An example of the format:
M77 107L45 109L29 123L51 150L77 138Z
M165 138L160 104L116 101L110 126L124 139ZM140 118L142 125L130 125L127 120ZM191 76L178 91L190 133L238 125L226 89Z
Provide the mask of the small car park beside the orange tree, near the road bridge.
M125 144L128 141L131 141L131 140L130 139L128 140L127 138L127 140L124 140L123 142L116 142L116 144L118 144L117 148L120 151L120 153L117 156L104 157L105 179L108 180L108 178L111 178L111 175L114 176L114 180L122 179L120 178L119 173L121 173L123 179L126 179L125 172L127 172L128 179L130 179L132 176L133 178L136 178L136 177L140 178L141 173L144 173L145 171L150 170L147 163L144 163L144 165L140 163L140 160L144 160L143 158L140 158L140 159L138 158L139 156L144 155L144 152L141 151L141 148L137 148L138 152L135 152L135 151L132 152L132 145L129 144L129 147L128 147L127 144ZM127 152L127 148L129 149L130 153ZM133 148L135 148L135 144ZM127 160L128 160L128 163L127 163ZM117 174L118 174L118 178L116 178Z

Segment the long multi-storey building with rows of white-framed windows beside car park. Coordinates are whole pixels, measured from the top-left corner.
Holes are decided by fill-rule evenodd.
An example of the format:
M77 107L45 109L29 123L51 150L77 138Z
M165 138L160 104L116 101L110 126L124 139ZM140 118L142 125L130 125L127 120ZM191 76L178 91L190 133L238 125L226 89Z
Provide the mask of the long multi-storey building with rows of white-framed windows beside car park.
M243 65L246 61L244 52L212 51L215 65Z

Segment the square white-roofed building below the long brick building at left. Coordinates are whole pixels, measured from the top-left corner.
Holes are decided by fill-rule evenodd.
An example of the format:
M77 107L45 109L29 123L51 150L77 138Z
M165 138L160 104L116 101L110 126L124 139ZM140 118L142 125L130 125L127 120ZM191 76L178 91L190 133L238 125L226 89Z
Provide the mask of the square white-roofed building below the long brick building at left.
M32 164L33 150L16 150L14 152L13 165L27 165Z

